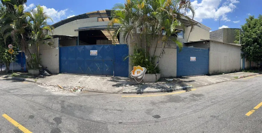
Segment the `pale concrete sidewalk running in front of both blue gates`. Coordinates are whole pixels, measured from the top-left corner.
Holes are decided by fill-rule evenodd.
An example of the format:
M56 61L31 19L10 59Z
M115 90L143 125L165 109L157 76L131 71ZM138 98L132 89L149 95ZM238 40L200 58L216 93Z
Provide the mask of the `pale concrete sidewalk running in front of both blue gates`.
M37 82L42 85L62 86L65 90L73 88L83 88L83 91L95 91L104 93L155 93L164 91L175 91L192 87L224 82L239 79L247 76L257 75L258 73L229 73L214 76L192 76L173 79L167 81L161 79L159 82L138 84L135 80L125 77L105 77L105 76L86 76L75 74L58 74L46 77L28 76L24 78L29 82ZM2 74L3 76L8 76ZM27 77L24 76L23 77ZM17 78L16 78L17 79ZM21 80L21 79L20 79Z

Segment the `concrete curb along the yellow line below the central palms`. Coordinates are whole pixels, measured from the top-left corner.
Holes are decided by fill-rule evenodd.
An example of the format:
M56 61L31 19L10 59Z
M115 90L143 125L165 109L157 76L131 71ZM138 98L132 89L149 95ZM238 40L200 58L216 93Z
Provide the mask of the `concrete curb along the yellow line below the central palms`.
M122 91L123 94L142 94L142 93L158 93L158 92L168 92L168 91L177 91L183 89L193 88L192 85L177 87L177 88L166 88L166 89L154 89L154 90L130 90L130 91Z

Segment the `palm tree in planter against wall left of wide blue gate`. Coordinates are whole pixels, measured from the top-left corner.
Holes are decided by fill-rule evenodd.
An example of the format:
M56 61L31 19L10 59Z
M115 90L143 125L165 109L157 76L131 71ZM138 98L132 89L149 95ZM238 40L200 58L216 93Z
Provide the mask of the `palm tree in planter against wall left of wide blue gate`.
M48 32L52 33L53 27L47 23L48 19L52 19L44 12L44 8L40 5L25 14L29 17L30 26L33 29L28 46L36 46L36 67L38 67L40 63L39 45L48 45L50 47L53 45L53 38L48 35ZM51 39L51 41L46 41L46 39Z

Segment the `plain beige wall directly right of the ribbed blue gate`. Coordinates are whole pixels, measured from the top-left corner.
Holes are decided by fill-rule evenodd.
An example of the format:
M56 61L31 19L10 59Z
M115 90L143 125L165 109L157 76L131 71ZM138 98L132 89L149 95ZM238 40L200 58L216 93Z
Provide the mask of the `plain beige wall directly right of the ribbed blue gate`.
M241 47L210 41L209 74L229 73L241 68Z

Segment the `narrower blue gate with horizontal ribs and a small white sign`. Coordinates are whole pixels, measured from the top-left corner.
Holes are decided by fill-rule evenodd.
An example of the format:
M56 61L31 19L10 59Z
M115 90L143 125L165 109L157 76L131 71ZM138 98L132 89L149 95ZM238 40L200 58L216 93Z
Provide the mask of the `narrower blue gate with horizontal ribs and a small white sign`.
M209 70L209 49L177 47L176 76L206 75Z

